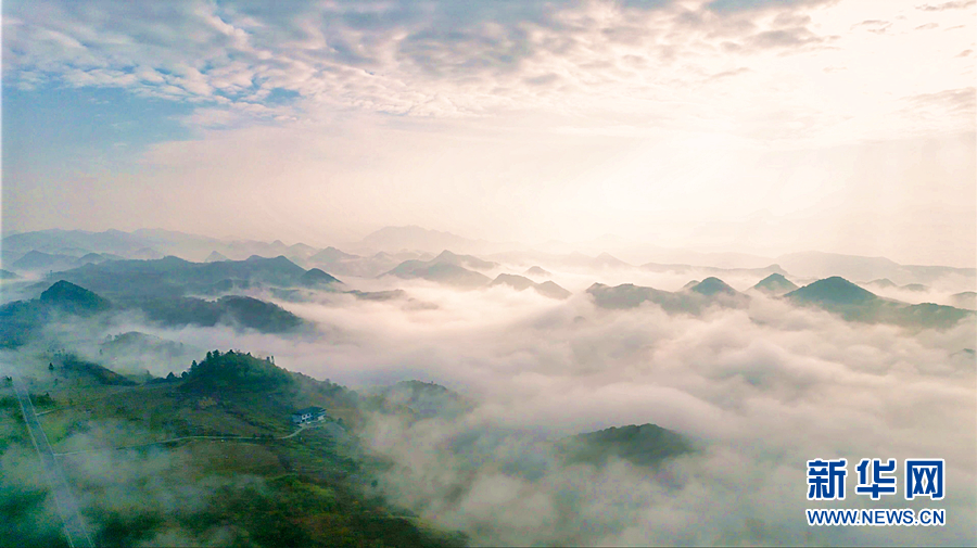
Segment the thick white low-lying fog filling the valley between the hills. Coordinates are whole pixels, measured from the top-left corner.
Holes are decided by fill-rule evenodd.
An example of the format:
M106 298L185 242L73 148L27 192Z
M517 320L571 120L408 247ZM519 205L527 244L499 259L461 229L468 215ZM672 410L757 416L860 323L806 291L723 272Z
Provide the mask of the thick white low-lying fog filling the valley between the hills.
M747 309L701 317L669 316L650 304L606 310L584 292L595 281L675 291L709 275L542 266L573 296L344 279L348 289L404 294L275 301L317 322L316 336L165 330L131 318L84 336L65 327L50 332L101 341L135 330L191 348L271 354L279 366L354 388L407 379L448 386L480 405L457 420L378 419L368 442L398 463L380 485L394 501L475 544L975 541L974 321L912 332L760 295ZM740 291L760 278L723 277ZM623 461L563 467L545 444L526 443L649 422L693 437L702 451L652 472ZM467 449L449 450L459 438L469 439ZM848 499L808 501L804 461L838 457L849 462ZM902 480L896 497L855 496L852 470L862 458L893 458L900 469L905 458L943 458L947 497L906 501ZM809 527L803 518L804 508L870 506L946 508L947 525Z

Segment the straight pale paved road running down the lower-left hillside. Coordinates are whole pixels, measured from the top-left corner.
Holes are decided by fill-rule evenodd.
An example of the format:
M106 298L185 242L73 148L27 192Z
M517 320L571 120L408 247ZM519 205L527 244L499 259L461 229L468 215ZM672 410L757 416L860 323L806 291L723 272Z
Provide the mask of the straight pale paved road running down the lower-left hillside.
M53 451L51 451L48 436L37 420L37 412L34 409L34 403L30 402L27 386L16 375L13 375L13 385L17 400L21 403L21 412L24 413L24 420L27 423L27 431L30 433L30 439L34 442L34 448L37 449L37 454L40 456L48 485L51 486L51 493L54 494L54 501L58 505L58 512L61 513L61 519L64 522L64 533L67 536L68 544L72 547L92 548L94 545L88 535L88 530L85 527L85 521L78 512L78 501L64 480L61 464L54 457Z

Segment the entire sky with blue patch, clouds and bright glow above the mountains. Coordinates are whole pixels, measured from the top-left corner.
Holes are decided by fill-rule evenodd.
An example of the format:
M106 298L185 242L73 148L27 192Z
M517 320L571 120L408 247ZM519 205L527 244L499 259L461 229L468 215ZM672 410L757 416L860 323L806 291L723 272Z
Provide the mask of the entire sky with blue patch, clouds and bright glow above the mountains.
M977 264L974 0L2 10L4 233Z

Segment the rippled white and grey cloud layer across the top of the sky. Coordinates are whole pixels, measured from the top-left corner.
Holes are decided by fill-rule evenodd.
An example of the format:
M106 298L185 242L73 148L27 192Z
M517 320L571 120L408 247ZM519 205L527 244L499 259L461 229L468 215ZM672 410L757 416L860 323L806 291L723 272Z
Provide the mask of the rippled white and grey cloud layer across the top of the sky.
M46 1L5 10L3 54L21 87L118 87L189 101L200 107L187 122L199 127L335 110L436 117L537 111L583 115L586 126L599 119L712 131L719 124L762 141L812 132L837 140L839 129L881 137L872 126L892 114L898 126L884 131L973 127L969 64L952 56L941 60L950 71L925 82L923 66L912 78L888 74L873 89L890 87L893 97L875 107L857 94L837 97L880 76L863 56L886 48L885 38L864 35L870 24L898 34L890 41L900 52L954 42L966 49L964 29L939 40L914 37L921 22L936 28L966 8L951 4L876 5L876 17L860 23L867 10L822 1L333 1L274 10L256 2L83 9ZM902 62L916 66L925 54ZM812 86L820 93L804 91ZM921 118L927 110L950 116Z

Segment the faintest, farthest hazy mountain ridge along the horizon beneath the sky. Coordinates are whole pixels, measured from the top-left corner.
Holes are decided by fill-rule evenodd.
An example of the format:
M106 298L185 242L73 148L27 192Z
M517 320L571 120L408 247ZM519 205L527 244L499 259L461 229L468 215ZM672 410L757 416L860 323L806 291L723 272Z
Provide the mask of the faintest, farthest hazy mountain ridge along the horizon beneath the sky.
M642 263L632 258L631 263L629 263L612 255L612 253L623 252L625 248L629 248L627 245L637 245L638 243L629 243L622 239L608 237L596 239L587 243L587 245L581 244L575 247L574 244L560 244L557 246L542 245L534 248L518 243L472 240L451 232L408 226L385 227L368 234L358 243L351 243L348 251L369 253L368 255L359 256L335 247L318 250L303 243L286 245L279 240L270 243L255 240L221 240L161 229L139 229L132 232L120 230L90 232L52 229L8 235L3 238L0 250L2 250L3 268L14 272L61 271L89 262L122 258L158 259L167 255L194 262L223 260L221 257L241 260L252 255L259 255L264 257L284 256L296 265L303 267L306 265L316 266L322 270L335 271L340 275L375 277L391 270L405 259L427 260L428 257L423 256L426 253L452 250L458 254L480 254L483 256L486 254L498 254L510 258L521 256L529 265L541 263L533 257L544 259L549 257L547 260L551 259L559 264L595 269L627 268L630 264L640 264L640 268L652 271L703 271L714 276L735 272L762 276L770 273L787 276L789 273L796 278L808 279L821 279L830 276L840 276L849 280L887 279L902 285L908 291L918 289L915 286L906 288L908 284L931 285L934 281L943 276L952 275L977 279L977 268L900 265L885 257L864 257L822 252L800 252L781 255L769 259L770 263L765 267L756 266L758 263L766 260L760 256L736 253L691 253L682 252L681 250L659 248L650 244L640 244L635 250L646 248L645 256L655 257L658 259L657 262ZM404 250L408 250L411 256L395 256ZM555 250L561 250L563 254L555 255L551 253ZM598 254L596 256L586 256L579 253L580 250L593 250L592 252ZM597 252L596 250L600 251ZM629 252L627 256L637 256L633 252L634 250ZM391 258L392 256L393 258ZM687 262L661 262L661 258L677 258ZM709 263L712 264L710 265ZM748 265L748 268L736 265ZM460 266L465 267L465 265Z

